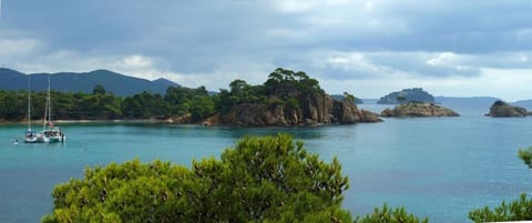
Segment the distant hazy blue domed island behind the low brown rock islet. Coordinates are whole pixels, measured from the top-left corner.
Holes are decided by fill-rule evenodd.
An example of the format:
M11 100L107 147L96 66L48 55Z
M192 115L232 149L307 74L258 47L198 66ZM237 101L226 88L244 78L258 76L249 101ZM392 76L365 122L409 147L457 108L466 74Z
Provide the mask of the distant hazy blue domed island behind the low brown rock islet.
M377 101L379 104L400 104L406 102L428 102L434 103L434 97L421 88L403 89L402 91L391 92Z

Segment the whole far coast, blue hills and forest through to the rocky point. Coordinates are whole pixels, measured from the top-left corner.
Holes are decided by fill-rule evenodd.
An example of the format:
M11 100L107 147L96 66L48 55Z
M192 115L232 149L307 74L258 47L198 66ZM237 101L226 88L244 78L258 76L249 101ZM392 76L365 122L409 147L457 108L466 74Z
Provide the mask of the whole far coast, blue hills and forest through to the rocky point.
M3 104L10 104L0 108L0 121L27 119L29 79L32 83L31 119L42 118L45 94L39 84L48 74L25 75L9 69L0 69L0 89L3 89L0 98ZM376 113L359 110L355 95L345 92L336 100L316 79L283 68L272 72L264 84L235 80L228 90L222 89L219 93L208 92L205 87L191 89L165 80L147 81L105 70L57 73L51 82L54 120L166 120L170 123L238 126L381 121ZM93 85L91 90L70 89L78 84ZM154 84L158 90L151 89ZM164 91L161 88L165 88Z

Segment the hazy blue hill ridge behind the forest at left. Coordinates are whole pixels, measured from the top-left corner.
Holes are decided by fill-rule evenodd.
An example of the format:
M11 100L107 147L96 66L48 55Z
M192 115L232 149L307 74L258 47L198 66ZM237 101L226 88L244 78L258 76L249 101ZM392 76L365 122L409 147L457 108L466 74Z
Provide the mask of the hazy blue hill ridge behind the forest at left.
M32 90L43 91L48 88L48 73L32 73L30 78ZM104 87L108 92L121 97L129 97L143 91L164 94L168 87L178 87L177 83L166 79L149 81L109 70L84 73L61 72L51 75L51 88L54 91L91 93L96 84ZM14 70L0 68L0 90L21 89L28 89L28 77Z

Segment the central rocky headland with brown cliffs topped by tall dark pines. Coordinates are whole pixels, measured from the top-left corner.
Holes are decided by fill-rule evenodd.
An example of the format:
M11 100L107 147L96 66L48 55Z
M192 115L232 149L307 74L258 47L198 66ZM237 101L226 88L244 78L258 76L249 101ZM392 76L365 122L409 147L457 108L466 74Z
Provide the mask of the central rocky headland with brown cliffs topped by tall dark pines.
M297 126L379 122L372 112L359 110L355 97L332 99L305 72L276 69L264 84L235 80L219 93L219 112L206 125Z

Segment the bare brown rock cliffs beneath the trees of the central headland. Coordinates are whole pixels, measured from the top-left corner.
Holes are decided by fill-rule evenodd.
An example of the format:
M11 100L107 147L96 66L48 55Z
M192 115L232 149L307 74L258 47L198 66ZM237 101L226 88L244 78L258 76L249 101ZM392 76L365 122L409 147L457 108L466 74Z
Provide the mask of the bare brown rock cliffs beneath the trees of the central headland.
M348 100L336 101L328 95L317 95L299 102L299 107L244 103L233 107L227 114L219 115L217 123L239 126L296 126L317 124L351 124L380 122L372 112L359 110Z

